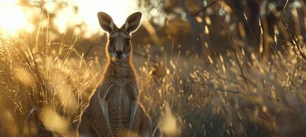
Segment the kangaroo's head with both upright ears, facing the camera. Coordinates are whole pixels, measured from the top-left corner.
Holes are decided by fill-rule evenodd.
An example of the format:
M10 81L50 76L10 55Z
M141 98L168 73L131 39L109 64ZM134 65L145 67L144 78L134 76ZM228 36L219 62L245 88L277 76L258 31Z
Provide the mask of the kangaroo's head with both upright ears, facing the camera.
M109 57L116 60L128 58L132 51L130 38L137 30L141 20L141 12L135 12L126 19L122 27L118 28L111 16L105 12L98 12L98 19L102 29L107 32L107 53Z

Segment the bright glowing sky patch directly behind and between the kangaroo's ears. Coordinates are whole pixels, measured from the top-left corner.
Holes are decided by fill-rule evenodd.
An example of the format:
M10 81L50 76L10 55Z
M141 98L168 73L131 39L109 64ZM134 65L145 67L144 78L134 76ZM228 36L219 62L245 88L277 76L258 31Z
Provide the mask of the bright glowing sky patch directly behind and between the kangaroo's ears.
M67 27L79 25L82 22L81 29L85 29L83 36L89 37L92 34L102 34L102 29L98 24L97 13L106 12L112 18L117 27L121 27L126 17L135 11L137 5L135 0L92 0L92 1L67 1L69 7L57 13L55 18L55 25L57 25L59 32L64 33ZM77 13L74 14L74 7L77 6ZM75 33L81 32L74 29Z

